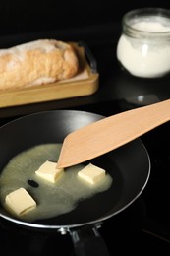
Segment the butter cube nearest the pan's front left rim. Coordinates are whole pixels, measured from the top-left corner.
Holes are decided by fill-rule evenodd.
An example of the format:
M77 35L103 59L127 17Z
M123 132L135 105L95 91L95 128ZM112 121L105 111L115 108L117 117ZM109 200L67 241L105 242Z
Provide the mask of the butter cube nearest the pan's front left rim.
M25 188L19 188L5 198L6 206L17 216L21 216L36 207L36 202Z

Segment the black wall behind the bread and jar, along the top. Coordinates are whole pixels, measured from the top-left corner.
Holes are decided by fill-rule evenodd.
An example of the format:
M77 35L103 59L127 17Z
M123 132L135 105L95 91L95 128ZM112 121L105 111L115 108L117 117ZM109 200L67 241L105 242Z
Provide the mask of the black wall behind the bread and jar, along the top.
M169 1L1 0L0 35L119 23L136 8L169 8Z

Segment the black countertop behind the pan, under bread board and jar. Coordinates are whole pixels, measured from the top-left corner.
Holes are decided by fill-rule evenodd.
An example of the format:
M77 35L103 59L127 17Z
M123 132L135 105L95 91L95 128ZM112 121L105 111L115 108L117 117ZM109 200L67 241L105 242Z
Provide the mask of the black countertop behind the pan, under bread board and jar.
M169 98L170 79L141 79L127 74L116 59L116 46L121 33L119 24L105 24L72 30L15 34L0 37L0 47L10 47L37 38L84 40L91 50L99 73L99 88L90 96L0 108L0 119L18 117L50 109L68 109L91 104L125 100L128 104L144 105Z

